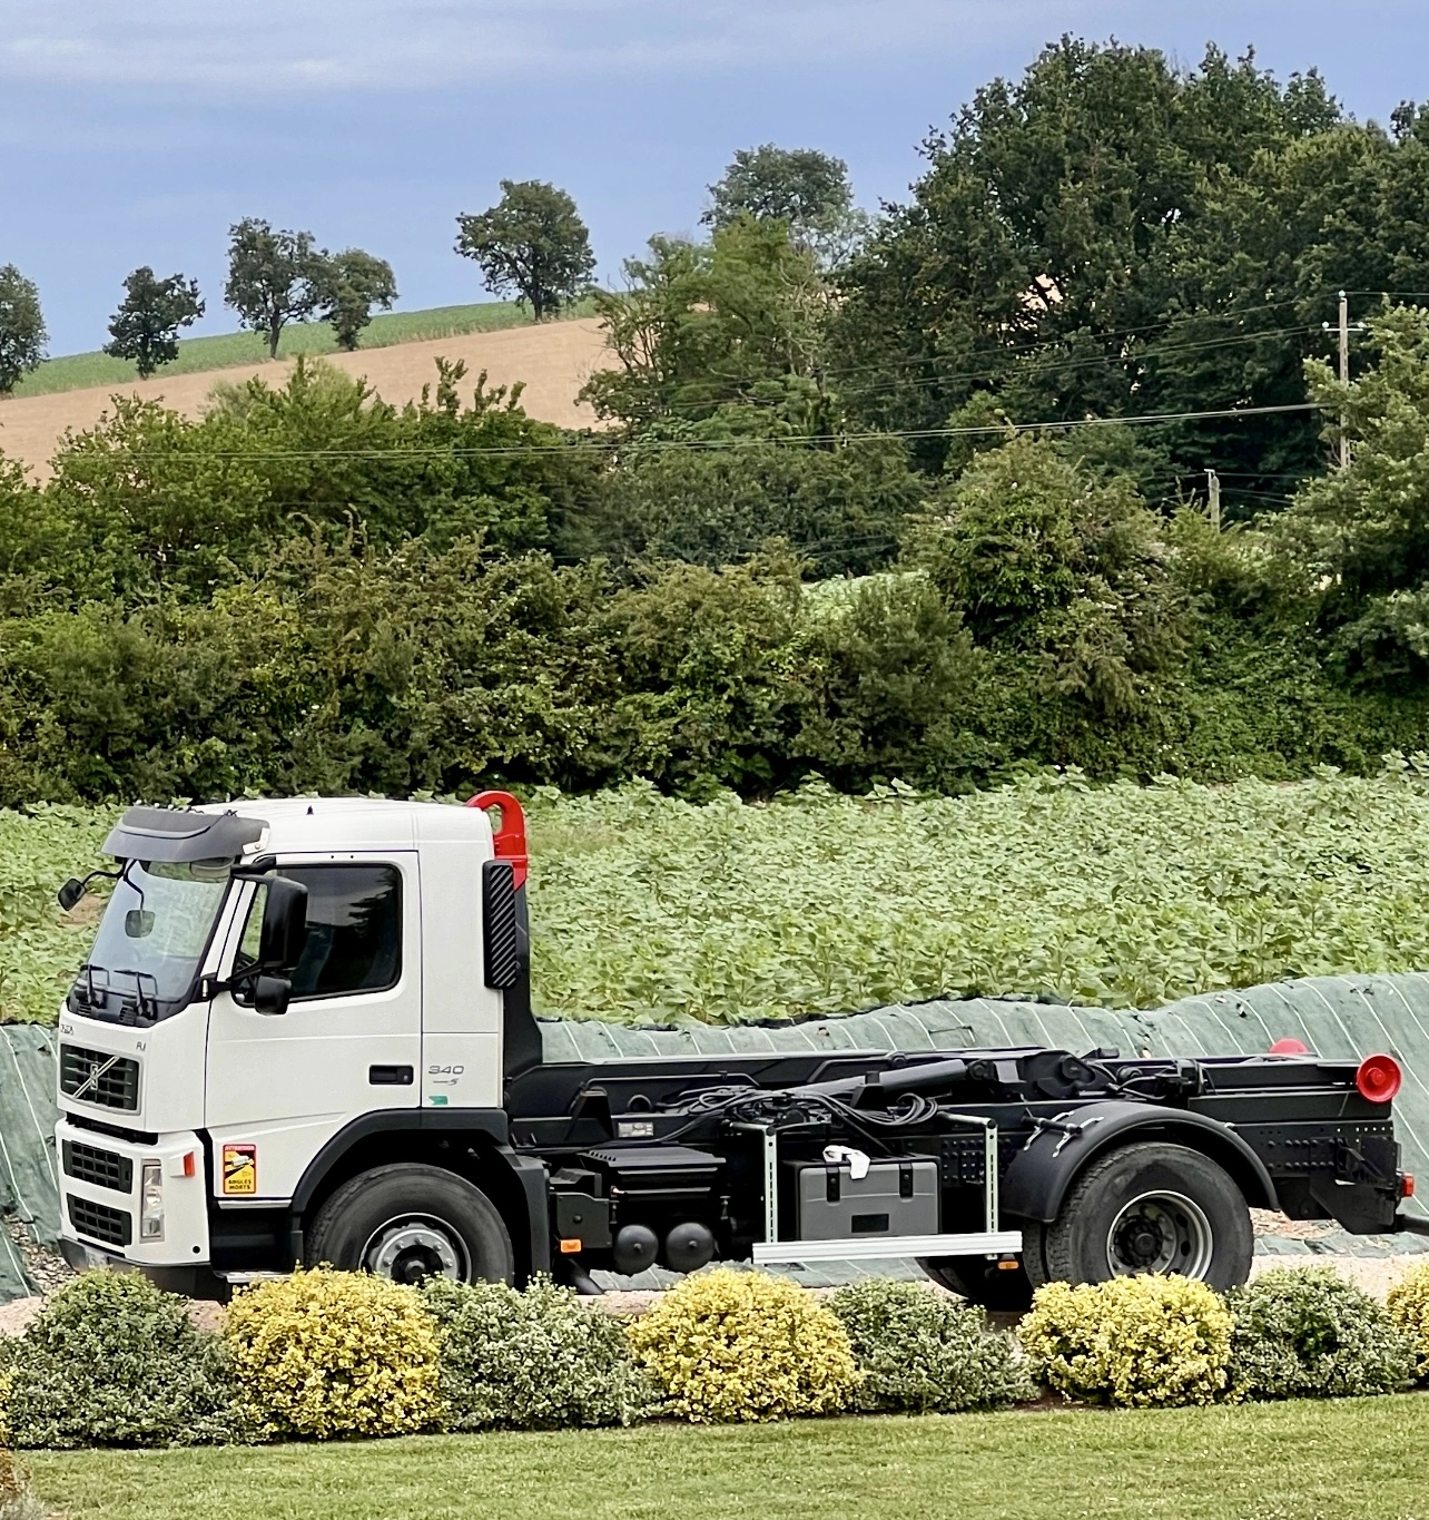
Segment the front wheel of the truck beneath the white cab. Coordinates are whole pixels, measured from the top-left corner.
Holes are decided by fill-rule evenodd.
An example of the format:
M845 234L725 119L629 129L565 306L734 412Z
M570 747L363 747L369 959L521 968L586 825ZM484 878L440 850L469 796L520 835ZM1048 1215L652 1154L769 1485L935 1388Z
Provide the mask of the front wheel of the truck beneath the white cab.
M317 1210L304 1256L351 1272L421 1283L509 1283L512 1240L491 1199L437 1166L378 1166L343 1183Z

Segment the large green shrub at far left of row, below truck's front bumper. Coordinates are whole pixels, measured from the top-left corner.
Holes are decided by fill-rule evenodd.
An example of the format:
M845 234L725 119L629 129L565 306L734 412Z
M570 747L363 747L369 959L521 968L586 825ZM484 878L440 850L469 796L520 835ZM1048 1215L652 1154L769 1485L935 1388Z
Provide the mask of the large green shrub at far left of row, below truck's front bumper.
M235 1439L223 1342L185 1301L131 1272L58 1289L9 1351L6 1423L20 1447L176 1446Z

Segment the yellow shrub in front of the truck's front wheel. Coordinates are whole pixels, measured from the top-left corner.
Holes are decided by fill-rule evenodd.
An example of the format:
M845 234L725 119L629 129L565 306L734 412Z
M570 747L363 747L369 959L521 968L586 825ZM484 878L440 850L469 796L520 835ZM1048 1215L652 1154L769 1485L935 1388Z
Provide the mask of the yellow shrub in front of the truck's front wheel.
M437 1330L415 1287L326 1268L238 1294L223 1335L267 1435L405 1435L439 1423Z

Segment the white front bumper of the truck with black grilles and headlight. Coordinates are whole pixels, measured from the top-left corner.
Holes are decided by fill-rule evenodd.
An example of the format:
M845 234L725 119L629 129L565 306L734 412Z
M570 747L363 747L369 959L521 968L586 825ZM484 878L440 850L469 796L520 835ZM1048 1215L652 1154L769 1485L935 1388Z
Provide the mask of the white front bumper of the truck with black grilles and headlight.
M144 1271L207 1268L208 1183L203 1146L193 1131L161 1135L153 1145L144 1145L61 1119L55 1126L55 1151L65 1260L76 1266L120 1265ZM164 1198L159 1239L146 1239L141 1230L144 1163L159 1167ZM82 1252L105 1260L90 1263Z

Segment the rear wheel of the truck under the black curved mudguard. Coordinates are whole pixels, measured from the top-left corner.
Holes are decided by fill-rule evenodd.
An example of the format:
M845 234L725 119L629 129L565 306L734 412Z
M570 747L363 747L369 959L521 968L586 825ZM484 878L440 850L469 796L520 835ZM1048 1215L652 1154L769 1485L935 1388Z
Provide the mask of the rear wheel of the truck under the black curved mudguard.
M1049 1278L1104 1283L1177 1272L1216 1289L1250 1275L1250 1210L1224 1167L1200 1151L1140 1142L1093 1161L1046 1227Z

